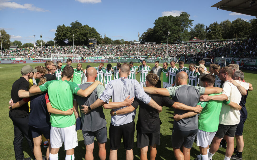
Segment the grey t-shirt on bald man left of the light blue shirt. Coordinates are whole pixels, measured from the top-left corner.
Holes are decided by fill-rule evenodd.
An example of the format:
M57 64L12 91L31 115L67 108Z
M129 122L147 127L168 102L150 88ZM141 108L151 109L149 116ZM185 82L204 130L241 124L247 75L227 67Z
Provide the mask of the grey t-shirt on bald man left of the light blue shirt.
M79 85L79 88L85 90L87 87L91 86L91 84L93 84L93 82L86 82L84 84ZM82 109L84 107L81 107L81 105L90 106L100 97L103 91L104 86L98 84L96 89L88 97L80 97L79 95L75 95L74 100L77 101L79 109ZM106 126L106 120L102 106L99 106L96 109L91 110L87 114L83 114L80 111L80 115L83 131L94 132Z

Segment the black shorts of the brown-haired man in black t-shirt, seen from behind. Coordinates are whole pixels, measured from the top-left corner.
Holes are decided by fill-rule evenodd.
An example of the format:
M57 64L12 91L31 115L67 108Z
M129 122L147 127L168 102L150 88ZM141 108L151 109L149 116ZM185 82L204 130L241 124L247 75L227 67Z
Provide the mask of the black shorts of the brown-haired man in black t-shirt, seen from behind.
M136 146L143 148L145 146L153 146L154 144L160 145L161 133L160 131L154 133L139 133L136 132Z

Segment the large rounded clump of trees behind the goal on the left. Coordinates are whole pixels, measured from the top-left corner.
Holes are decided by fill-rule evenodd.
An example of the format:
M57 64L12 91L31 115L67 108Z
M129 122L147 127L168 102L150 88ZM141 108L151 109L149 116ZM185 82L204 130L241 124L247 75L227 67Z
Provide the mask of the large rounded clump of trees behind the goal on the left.
M77 20L75 22L71 22L70 25L71 27L65 25L57 26L54 38L56 44L60 46L65 46L66 44L63 42L63 40L68 39L68 45L73 45L72 34L74 34L74 45L88 44L89 38L96 38L97 44L103 42L103 39L100 37L100 34L96 31L94 27L82 25Z

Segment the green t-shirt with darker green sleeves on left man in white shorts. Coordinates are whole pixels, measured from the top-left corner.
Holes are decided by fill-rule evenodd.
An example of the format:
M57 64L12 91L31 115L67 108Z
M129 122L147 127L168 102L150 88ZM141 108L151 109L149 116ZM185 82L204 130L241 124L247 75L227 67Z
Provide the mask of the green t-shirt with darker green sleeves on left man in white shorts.
M74 95L80 90L78 84L69 81L48 81L39 86L41 92L48 92L49 100L53 108L67 111L73 107ZM74 113L62 115L51 113L50 122L53 127L69 127L75 124Z

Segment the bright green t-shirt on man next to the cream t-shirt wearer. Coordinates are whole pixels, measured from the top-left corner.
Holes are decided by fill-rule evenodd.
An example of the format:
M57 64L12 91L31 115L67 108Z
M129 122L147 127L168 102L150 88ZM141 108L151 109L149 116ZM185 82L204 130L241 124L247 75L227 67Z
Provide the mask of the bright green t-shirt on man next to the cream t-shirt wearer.
M209 94L209 95L220 95ZM200 113L198 120L198 129L205 132L216 132L219 126L219 113L221 112L221 106L223 101L209 100L207 102L198 102L201 104L203 110Z

